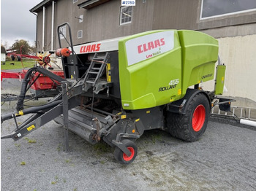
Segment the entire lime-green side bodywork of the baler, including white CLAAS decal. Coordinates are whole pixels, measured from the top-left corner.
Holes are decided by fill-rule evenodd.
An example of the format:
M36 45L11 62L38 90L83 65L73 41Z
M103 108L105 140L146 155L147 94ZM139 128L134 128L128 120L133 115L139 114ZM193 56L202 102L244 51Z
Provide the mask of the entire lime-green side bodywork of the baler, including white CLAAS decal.
M217 56L217 40L195 31L148 31L119 40L123 108L146 109L177 101L190 85L214 78Z

